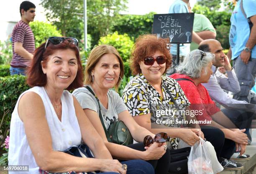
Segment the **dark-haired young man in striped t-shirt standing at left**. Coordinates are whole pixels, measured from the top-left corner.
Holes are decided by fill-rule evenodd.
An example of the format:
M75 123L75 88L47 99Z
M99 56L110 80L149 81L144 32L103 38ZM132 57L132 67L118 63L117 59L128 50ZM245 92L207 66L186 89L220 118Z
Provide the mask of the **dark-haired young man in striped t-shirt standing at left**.
M11 35L13 58L10 62L10 75L26 75L35 51L35 39L29 22L36 16L36 6L29 1L20 4L21 20L14 26Z

